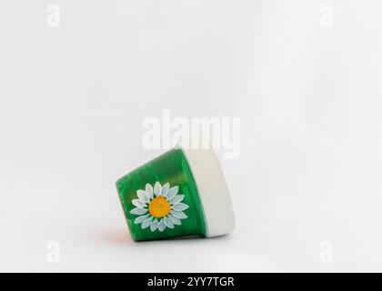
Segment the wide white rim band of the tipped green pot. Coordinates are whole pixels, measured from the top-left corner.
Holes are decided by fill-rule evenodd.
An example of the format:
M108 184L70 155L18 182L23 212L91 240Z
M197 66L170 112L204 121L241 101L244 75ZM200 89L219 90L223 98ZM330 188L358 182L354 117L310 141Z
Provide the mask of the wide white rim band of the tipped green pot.
M213 149L185 149L206 217L206 236L230 234L235 217L226 178Z

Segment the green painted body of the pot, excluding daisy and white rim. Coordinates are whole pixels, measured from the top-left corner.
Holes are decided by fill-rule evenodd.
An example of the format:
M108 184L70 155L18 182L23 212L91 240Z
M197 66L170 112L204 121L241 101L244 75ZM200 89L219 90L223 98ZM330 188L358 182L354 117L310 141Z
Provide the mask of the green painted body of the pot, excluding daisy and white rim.
M179 186L178 194L185 195L182 201L188 209L183 212L188 216L182 219L181 226L174 229L166 227L163 232L152 232L150 227L142 229L135 224L136 215L130 214L135 208L132 200L137 198L136 191L145 190L146 184L155 185L158 181L162 186L166 183ZM191 172L186 156L181 149L172 149L162 156L138 167L116 182L116 188L125 212L127 225L134 240L162 239L176 236L206 236L206 222L203 208L197 192L196 182Z

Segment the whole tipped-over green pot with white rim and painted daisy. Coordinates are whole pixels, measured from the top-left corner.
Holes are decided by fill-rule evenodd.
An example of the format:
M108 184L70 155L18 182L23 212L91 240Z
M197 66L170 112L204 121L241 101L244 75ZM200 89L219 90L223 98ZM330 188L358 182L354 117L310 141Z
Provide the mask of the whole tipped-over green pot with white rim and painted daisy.
M212 149L172 149L120 178L116 188L136 241L222 236L235 227L226 180Z

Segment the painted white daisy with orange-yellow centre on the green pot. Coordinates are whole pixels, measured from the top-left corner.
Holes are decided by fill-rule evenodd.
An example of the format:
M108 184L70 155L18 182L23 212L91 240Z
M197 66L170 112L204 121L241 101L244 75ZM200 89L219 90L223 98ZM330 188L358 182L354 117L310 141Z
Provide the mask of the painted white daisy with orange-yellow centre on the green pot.
M138 199L132 201L136 208L130 211L130 214L138 216L134 223L141 224L142 229L150 227L152 232L182 225L181 219L188 217L183 211L189 206L182 203L185 196L177 194L178 190L178 186L170 188L168 183L161 186L156 182L154 188L146 184L145 190L136 191Z

